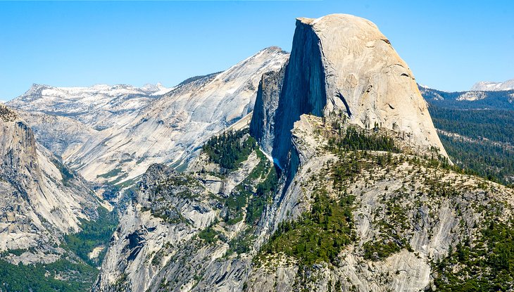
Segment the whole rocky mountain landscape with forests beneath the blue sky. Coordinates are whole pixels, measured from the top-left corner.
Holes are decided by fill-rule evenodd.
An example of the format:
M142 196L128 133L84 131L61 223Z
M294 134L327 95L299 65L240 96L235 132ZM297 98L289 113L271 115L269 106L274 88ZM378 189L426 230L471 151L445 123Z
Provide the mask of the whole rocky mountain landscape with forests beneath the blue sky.
M509 84L423 87L347 14L175 87L35 84L0 291L512 291Z

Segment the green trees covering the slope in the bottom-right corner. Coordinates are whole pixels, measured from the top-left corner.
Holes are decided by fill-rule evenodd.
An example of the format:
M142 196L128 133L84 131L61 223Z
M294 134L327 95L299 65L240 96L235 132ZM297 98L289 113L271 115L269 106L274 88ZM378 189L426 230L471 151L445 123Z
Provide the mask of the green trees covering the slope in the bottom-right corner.
M514 220L490 220L475 242L466 239L434 263L437 291L512 291Z

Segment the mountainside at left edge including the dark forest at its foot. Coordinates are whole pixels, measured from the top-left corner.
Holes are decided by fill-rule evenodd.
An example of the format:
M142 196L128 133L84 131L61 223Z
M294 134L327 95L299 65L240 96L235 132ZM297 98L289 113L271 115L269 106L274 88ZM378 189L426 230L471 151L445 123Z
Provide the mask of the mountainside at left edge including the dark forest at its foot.
M0 157L1 289L85 291L98 271L68 239L87 233L87 226L103 220L107 211L101 206L110 206L36 141L19 113L4 105ZM105 243L93 248L105 248Z

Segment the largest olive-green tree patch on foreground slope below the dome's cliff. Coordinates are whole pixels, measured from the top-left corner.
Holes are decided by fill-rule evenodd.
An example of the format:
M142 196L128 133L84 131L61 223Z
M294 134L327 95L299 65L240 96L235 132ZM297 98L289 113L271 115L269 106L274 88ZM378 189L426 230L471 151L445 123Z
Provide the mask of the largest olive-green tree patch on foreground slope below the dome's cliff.
M280 224L261 248L262 255L284 253L302 265L332 262L355 236L353 200L353 196L344 196L336 201L325 190L319 191L311 212L303 213L297 221Z

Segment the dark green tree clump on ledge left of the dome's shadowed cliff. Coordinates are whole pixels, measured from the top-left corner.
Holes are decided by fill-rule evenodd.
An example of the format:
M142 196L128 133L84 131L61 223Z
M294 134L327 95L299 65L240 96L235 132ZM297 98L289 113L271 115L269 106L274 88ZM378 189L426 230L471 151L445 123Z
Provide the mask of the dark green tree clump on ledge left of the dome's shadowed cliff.
M243 139L246 134L248 129L227 131L214 136L203 145L203 152L208 155L211 163L217 163L227 170L234 170L256 148L255 139Z

